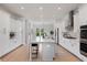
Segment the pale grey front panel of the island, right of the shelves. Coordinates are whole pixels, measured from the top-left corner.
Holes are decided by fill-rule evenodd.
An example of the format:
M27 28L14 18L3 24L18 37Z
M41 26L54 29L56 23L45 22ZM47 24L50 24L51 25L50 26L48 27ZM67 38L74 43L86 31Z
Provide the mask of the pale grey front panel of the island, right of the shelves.
M54 57L54 43L42 44L42 61L53 61Z

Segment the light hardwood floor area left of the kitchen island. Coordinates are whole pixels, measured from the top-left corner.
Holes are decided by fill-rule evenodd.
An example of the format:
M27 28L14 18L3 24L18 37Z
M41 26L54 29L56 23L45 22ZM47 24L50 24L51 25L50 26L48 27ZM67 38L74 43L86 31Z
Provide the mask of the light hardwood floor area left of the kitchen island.
M29 51L26 45L18 47L15 51L9 53L8 55L1 57L2 62L26 62L29 61Z

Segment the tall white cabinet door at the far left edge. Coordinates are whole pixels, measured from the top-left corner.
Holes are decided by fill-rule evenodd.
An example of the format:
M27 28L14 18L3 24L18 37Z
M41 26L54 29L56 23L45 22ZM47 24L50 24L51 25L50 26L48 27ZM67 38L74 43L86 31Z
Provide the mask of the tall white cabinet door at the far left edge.
M9 14L0 11L0 56L9 51Z

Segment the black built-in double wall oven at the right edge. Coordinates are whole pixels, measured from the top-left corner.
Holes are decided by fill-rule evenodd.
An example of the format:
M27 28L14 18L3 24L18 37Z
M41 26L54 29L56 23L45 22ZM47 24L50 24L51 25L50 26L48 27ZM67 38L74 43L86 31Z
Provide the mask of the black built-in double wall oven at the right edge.
M87 56L87 25L80 26L80 53Z

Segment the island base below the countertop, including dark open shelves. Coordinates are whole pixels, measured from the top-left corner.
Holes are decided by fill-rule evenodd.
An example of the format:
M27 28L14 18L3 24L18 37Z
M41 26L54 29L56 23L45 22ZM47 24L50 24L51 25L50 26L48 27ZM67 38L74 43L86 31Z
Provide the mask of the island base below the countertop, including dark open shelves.
M30 47L31 61L52 62L55 58L55 43L32 43Z

